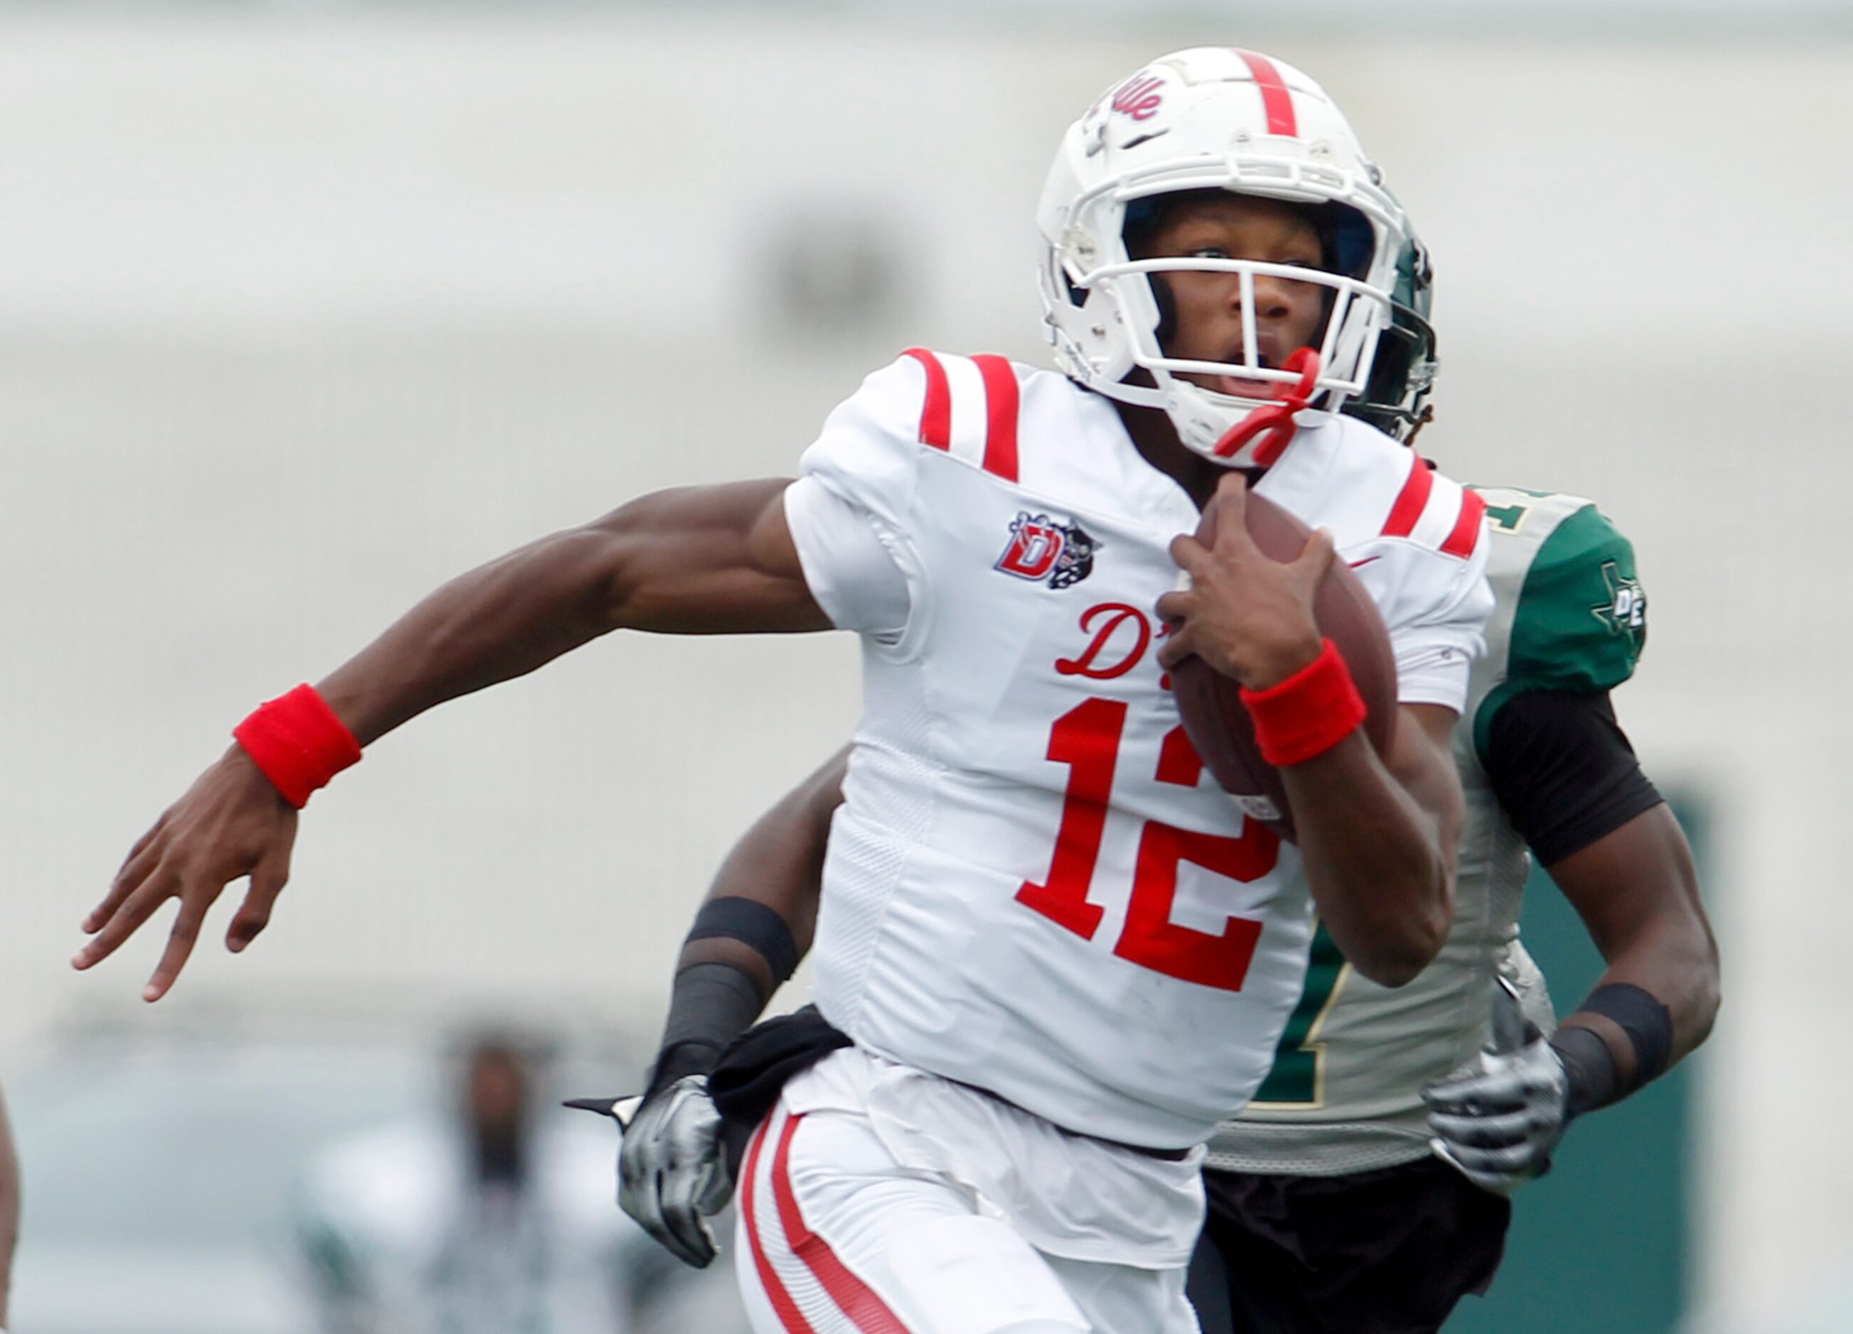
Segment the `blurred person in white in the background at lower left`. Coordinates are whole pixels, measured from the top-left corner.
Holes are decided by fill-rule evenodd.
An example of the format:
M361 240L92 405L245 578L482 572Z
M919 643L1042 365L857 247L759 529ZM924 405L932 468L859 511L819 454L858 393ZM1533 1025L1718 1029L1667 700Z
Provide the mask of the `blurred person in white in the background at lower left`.
M541 1114L539 1073L523 1043L478 1038L450 1115L311 1162L298 1236L328 1334L637 1328L656 1247L611 1202L610 1128Z

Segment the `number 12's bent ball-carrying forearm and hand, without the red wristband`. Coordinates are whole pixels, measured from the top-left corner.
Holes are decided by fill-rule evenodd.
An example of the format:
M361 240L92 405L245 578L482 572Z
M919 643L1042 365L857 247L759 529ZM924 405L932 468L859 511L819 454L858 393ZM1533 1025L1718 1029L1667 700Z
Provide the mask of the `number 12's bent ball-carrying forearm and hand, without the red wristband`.
M1158 600L1158 615L1179 626L1160 661L1175 667L1199 654L1264 691L1321 658L1312 595L1334 552L1321 530L1292 563L1269 560L1249 537L1245 498L1242 476L1229 474L1216 493L1216 545L1171 543L1191 587ZM1451 710L1405 706L1388 761L1355 730L1280 769L1319 915L1351 965L1384 986L1412 980L1447 939L1460 830L1453 721Z

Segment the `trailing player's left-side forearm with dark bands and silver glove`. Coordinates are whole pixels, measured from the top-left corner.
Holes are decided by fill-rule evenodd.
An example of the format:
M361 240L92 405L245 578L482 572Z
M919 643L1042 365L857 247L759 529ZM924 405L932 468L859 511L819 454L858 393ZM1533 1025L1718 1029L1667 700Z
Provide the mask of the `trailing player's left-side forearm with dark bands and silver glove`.
M810 952L847 763L845 747L762 815L721 863L682 947L649 1088L624 1128L617 1202L697 1267L715 1256L706 1215L732 1193L708 1073Z

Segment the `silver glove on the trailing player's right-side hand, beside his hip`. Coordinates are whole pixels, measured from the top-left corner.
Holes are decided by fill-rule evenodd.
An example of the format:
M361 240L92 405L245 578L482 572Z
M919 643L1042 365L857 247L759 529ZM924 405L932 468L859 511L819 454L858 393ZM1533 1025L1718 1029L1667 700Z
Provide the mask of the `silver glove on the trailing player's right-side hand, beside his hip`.
M1431 1084L1429 1147L1469 1182L1510 1195L1551 1169L1551 1152L1568 1125L1569 1076L1538 1026L1519 1010L1518 991L1499 978L1494 989L1492 1043L1479 1071Z

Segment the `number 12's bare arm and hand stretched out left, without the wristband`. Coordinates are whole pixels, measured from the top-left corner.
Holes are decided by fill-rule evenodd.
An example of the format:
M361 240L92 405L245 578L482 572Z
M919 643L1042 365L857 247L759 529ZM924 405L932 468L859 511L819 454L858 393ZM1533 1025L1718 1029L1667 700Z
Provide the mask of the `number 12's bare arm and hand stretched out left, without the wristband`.
M826 630L784 519L788 482L662 491L543 537L419 602L321 682L359 745L434 704L521 676L611 630L728 634ZM185 965L208 908L250 876L226 945L248 945L289 878L296 810L233 745L135 843L83 921L72 963L107 958L169 899L180 912L154 976L158 1000Z

